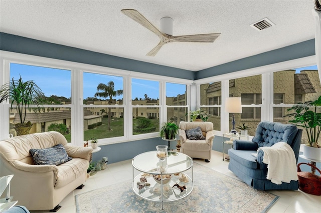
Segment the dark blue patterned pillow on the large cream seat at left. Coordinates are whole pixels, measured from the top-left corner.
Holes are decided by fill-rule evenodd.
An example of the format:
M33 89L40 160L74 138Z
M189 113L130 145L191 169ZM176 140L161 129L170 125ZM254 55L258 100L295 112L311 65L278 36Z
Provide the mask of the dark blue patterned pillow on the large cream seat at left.
M59 165L72 159L62 144L50 148L32 148L29 153L36 165Z

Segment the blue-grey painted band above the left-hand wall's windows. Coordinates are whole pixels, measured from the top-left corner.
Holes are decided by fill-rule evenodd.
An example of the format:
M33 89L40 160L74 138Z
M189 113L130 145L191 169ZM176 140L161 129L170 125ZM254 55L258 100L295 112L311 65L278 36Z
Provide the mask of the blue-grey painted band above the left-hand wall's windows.
M195 72L0 32L0 49L111 68L195 79ZM147 56L146 56L147 57Z

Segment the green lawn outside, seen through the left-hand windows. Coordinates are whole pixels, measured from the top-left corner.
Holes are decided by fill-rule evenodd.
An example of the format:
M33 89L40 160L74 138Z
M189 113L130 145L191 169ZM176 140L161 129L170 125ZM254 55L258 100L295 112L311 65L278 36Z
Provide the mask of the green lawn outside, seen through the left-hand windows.
M136 119L133 119L133 124L135 125ZM159 119L151 119L152 125L156 127L156 130L159 129ZM102 125L97 126L96 128L88 129L84 131L84 140L90 140L90 138L95 137L97 139L117 137L124 135L123 128L124 119L123 118L111 118L110 127L112 131L108 131L108 117L102 118ZM138 134L135 133L134 134ZM64 135L68 142L71 142L71 134Z

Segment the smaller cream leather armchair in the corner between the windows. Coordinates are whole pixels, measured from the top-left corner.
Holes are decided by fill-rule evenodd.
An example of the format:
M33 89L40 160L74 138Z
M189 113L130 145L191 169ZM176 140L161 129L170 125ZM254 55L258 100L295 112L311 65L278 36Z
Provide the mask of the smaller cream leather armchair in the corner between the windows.
M213 123L181 121L179 127L182 152L190 157L202 158L209 162L214 139ZM202 135L199 134L200 130Z

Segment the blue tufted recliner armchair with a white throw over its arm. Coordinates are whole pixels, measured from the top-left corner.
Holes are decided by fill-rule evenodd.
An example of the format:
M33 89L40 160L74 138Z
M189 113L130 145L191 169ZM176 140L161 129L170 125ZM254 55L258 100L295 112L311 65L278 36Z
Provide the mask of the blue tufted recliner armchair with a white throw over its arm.
M298 182L291 182L278 185L266 179L267 164L263 163L264 152L257 149L262 146L272 146L274 143L283 141L287 142L293 149L296 162L298 159L302 129L298 129L293 124L282 124L277 122L261 121L257 128L252 141L234 140L233 148L228 150L230 156L229 169L246 182L260 190L270 189L294 189L297 190Z

